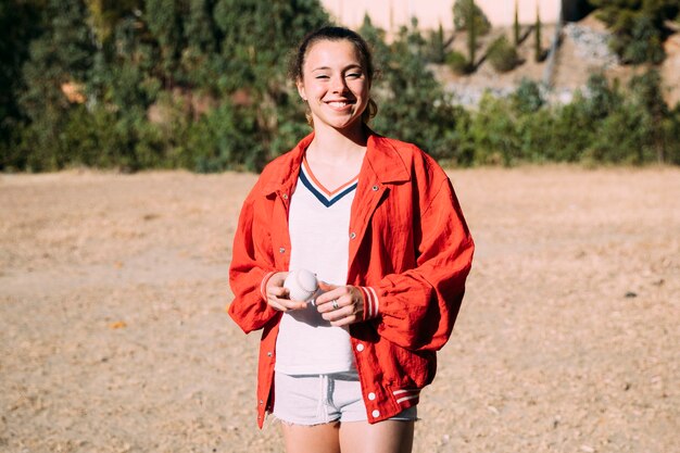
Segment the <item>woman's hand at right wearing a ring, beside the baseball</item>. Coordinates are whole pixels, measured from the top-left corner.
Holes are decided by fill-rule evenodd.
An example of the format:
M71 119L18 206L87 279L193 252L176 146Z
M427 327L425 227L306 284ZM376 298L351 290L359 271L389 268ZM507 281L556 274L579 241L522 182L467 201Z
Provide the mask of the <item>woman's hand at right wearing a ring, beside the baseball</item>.
M364 319L364 297L360 289L323 281L318 287L324 293L316 298L316 310L331 326L348 326Z

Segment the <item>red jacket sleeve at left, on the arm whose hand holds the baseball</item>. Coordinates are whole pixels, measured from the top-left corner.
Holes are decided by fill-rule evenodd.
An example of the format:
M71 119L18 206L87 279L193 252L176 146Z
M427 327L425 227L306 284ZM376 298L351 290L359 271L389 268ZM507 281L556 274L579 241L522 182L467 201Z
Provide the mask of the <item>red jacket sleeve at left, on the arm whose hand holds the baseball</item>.
M228 313L245 334L263 328L279 313L266 303L263 295L263 286L276 268L270 230L267 227L267 210L262 202L259 203L262 198L264 196L259 185L255 185L243 202L229 266L234 301Z

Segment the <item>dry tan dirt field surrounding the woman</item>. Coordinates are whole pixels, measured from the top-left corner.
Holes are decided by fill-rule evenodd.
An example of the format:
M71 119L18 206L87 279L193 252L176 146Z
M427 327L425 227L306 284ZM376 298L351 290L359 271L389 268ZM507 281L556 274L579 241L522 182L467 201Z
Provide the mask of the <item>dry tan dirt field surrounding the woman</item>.
M478 248L415 452L677 451L680 169L451 177ZM225 313L254 180L0 176L1 452L281 451Z

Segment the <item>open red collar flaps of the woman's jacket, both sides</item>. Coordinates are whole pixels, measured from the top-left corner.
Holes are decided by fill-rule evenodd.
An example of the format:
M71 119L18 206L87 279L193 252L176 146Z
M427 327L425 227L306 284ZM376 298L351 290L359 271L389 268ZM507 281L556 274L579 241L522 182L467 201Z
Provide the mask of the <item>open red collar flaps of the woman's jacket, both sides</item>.
M366 131L368 134L368 141L366 143L366 156L360 173L360 180L362 176L370 174L370 179L380 184L408 181L411 174L403 161L402 154L394 148L391 140L374 133L368 127L366 127ZM263 187L265 196L275 192L289 193L292 191L292 188L298 181L302 158L313 139L314 133L300 140L295 148L293 148L286 158L282 158L284 160L280 166Z

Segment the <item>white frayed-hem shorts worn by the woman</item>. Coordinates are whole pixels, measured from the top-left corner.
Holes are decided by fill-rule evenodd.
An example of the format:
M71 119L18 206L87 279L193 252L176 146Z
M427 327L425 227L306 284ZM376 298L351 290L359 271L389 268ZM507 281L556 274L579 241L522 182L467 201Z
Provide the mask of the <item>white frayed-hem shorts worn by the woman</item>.
M366 421L356 372L290 376L275 373L274 416L284 423L313 426L331 421ZM417 419L416 406L391 420Z

